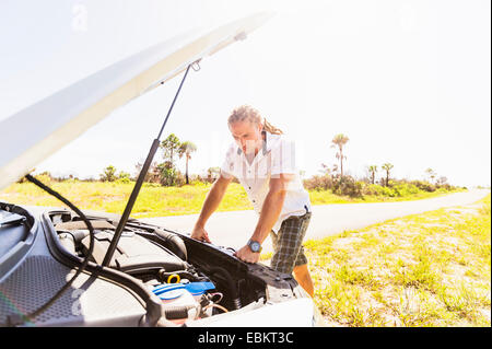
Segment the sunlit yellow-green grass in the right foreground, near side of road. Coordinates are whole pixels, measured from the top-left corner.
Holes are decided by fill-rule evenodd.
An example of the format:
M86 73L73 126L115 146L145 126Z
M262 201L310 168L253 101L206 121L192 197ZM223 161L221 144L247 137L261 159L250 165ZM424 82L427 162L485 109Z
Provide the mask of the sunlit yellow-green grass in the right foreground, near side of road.
M333 326L491 326L490 195L305 243Z

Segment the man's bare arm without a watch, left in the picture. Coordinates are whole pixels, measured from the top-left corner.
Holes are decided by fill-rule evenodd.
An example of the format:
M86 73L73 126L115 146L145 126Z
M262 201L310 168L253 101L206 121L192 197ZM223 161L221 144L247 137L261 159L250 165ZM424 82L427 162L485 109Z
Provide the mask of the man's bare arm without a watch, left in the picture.
M204 224L221 203L231 181L231 176L223 175L221 173L220 177L213 183L212 188L210 189L209 194L207 194L200 216L195 223L195 228L191 233L192 239L210 242L208 233L204 230Z

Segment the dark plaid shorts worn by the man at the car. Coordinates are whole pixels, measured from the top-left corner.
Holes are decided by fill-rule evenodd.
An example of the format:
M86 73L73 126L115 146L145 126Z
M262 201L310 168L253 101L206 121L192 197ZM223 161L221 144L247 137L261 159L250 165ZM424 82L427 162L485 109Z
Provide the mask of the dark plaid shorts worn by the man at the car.
M292 274L294 267L307 264L302 245L309 225L311 212L304 216L291 216L282 222L279 232L270 232L273 243L273 257L270 266L285 274Z

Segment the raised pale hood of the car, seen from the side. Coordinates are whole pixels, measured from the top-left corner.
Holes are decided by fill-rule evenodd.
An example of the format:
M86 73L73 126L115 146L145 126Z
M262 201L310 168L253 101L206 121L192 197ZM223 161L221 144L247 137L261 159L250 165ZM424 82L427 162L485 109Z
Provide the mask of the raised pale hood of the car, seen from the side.
M0 121L0 189L81 136L117 107L159 86L189 65L244 39L271 13L200 28L124 59Z

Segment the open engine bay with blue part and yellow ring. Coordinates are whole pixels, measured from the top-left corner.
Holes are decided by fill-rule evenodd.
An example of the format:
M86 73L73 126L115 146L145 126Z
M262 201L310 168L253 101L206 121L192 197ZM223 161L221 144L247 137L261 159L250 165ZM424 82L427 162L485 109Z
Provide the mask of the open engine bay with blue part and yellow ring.
M86 257L90 233L85 223L70 211L51 211L48 217L66 253ZM94 228L91 261L102 265L118 221L87 218ZM165 318L176 325L237 311L251 303L295 298L292 276L260 264L245 264L233 257L233 252L129 220L108 267L141 282L161 300Z

